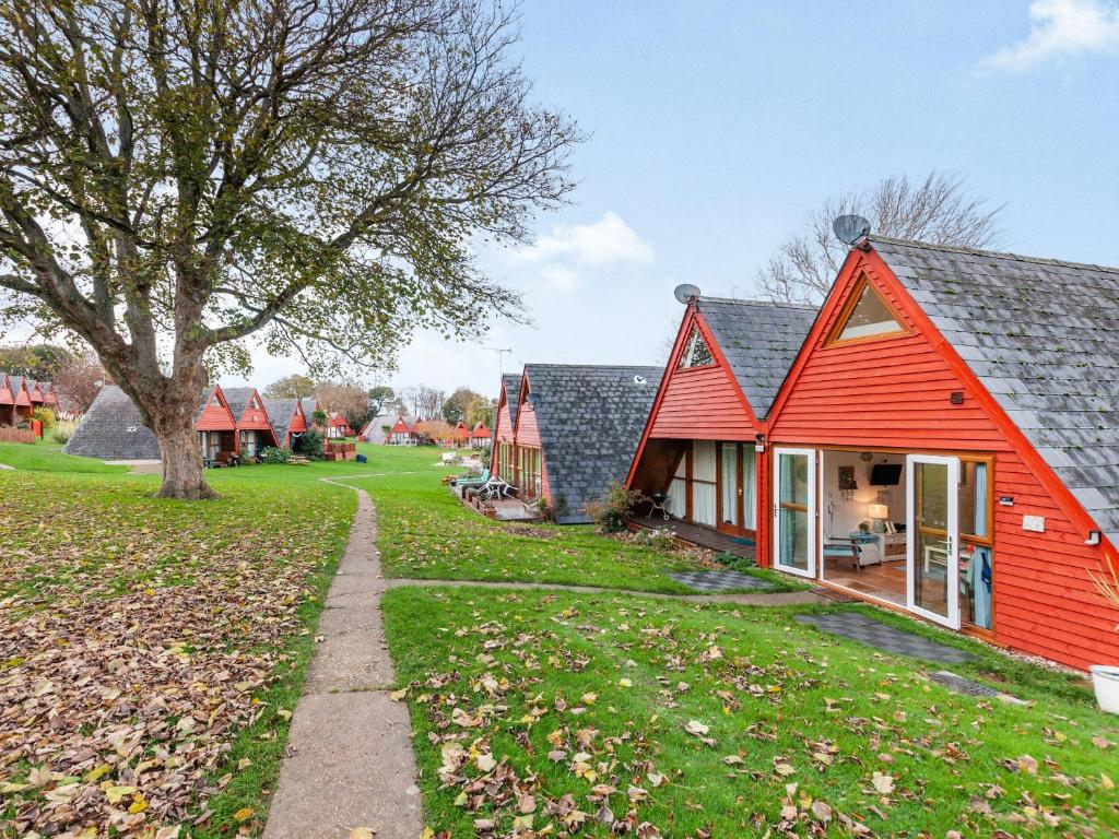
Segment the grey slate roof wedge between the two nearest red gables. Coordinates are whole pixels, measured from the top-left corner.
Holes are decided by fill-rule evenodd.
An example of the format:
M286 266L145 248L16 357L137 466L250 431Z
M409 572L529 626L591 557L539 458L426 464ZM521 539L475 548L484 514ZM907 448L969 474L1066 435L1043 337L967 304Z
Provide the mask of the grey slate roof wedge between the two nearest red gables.
M696 305L754 414L764 417L819 310L725 298L699 298Z

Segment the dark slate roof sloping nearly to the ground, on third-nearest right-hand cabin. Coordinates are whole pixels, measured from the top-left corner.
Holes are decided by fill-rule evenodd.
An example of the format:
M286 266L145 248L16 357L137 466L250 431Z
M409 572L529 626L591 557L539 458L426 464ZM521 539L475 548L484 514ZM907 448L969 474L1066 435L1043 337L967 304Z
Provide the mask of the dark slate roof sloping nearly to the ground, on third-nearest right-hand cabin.
M661 367L525 366L557 521L587 521L583 505L626 480L662 374Z

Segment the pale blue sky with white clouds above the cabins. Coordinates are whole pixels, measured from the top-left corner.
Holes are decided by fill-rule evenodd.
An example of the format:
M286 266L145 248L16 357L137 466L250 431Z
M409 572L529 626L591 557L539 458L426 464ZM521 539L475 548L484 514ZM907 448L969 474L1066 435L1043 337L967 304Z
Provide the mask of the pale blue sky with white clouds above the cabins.
M809 210L888 176L966 178L1000 249L1119 265L1119 0L525 0L521 29L537 102L589 135L571 206L480 257L533 323L419 333L356 383L496 396L526 362L662 362L677 284L756 296ZM299 370L254 360L257 385Z

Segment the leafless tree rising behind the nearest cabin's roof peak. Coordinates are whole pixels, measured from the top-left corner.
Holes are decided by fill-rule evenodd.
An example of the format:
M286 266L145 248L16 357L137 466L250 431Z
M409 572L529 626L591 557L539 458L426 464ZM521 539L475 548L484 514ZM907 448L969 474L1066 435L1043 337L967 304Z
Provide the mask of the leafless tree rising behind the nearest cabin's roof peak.
M999 237L1000 210L971 196L962 178L940 172L930 172L921 181L885 178L869 190L845 192L812 210L805 233L782 244L759 272L758 286L777 302L820 302L850 249L831 230L838 216L864 216L871 230L883 236L989 247Z

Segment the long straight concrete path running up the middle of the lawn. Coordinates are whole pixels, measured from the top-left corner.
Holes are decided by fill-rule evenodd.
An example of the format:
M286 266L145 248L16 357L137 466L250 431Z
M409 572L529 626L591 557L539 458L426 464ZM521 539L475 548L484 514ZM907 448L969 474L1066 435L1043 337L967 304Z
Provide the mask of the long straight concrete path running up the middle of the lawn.
M264 839L346 839L359 827L377 839L416 839L423 830L407 705L387 690L393 664L382 628L376 511L357 493Z

